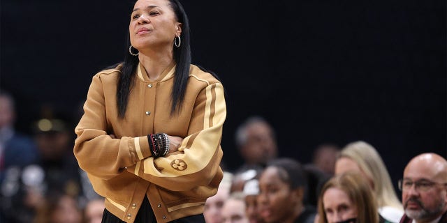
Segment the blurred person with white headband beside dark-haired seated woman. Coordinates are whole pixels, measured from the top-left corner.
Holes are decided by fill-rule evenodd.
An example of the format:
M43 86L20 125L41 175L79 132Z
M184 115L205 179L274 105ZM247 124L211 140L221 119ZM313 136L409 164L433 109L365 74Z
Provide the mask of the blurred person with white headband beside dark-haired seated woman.
M244 185L243 190L245 196L245 213L250 223L263 223L263 219L259 213L258 195L259 195L259 180L248 180Z

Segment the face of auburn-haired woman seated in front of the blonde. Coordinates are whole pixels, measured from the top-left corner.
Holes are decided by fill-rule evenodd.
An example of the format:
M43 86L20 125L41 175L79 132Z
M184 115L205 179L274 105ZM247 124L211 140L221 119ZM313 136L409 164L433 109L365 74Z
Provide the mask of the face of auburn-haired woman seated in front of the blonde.
M323 194L323 208L328 223L343 222L357 217L357 208L348 194L337 187L330 187Z

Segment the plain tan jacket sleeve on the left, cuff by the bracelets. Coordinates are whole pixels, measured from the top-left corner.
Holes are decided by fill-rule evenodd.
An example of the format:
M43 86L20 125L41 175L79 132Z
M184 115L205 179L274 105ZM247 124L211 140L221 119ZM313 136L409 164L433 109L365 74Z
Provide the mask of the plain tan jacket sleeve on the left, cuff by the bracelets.
M107 106L116 105L106 105L101 75L97 74L93 77L87 93L84 115L75 128L78 137L75 139L73 153L81 169L103 179L113 178L125 167L150 156L149 148L140 148L139 145L141 142L148 147L147 137L110 137L105 116Z

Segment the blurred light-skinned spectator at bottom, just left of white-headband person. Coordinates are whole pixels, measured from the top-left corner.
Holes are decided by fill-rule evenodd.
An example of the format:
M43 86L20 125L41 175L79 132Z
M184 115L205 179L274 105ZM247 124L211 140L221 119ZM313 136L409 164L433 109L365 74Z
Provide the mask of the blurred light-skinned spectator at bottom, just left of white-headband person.
M223 223L249 223L245 214L245 201L242 192L230 194L230 197L223 203L221 211Z

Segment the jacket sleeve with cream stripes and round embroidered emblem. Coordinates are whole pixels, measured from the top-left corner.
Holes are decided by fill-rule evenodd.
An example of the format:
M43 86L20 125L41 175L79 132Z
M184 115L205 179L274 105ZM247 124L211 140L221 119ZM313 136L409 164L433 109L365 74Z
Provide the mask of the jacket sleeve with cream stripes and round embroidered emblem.
M189 136L182 141L179 152L156 159L148 157L127 171L168 190L185 191L210 185L217 171L221 171L220 143L225 118L223 86L207 85L196 98Z

